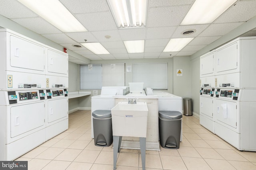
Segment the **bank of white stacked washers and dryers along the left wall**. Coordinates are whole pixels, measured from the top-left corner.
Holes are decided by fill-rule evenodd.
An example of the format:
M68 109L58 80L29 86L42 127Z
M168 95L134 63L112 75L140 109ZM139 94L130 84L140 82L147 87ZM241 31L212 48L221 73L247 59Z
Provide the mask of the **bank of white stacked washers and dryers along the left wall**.
M68 55L0 29L0 160L68 129Z

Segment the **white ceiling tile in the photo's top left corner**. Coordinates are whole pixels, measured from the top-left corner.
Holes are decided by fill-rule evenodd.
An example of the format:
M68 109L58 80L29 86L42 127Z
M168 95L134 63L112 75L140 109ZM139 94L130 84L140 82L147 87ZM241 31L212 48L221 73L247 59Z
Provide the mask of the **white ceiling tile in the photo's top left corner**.
M17 0L1 0L1 15L6 18L29 18L38 17L37 14L29 10Z

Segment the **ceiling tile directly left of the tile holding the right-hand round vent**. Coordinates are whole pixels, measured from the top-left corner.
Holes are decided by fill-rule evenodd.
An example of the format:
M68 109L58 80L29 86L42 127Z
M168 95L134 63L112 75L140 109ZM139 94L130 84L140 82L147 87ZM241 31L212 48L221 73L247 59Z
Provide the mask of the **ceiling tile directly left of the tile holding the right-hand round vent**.
M151 27L147 29L147 39L170 38L176 27Z

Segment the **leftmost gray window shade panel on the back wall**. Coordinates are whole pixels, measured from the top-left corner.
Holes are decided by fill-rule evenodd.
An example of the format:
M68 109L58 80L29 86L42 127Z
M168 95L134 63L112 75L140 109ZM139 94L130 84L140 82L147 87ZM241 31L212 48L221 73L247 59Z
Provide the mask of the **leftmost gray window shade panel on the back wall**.
M92 64L92 69L88 64L80 65L80 89L99 90L102 87L102 66Z

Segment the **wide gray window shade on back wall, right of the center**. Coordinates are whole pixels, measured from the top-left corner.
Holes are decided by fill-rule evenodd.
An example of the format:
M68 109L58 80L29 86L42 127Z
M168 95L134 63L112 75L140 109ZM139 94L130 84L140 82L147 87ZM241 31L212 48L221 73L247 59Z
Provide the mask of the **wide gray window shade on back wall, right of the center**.
M133 63L132 81L144 82L144 88L168 90L168 63Z

